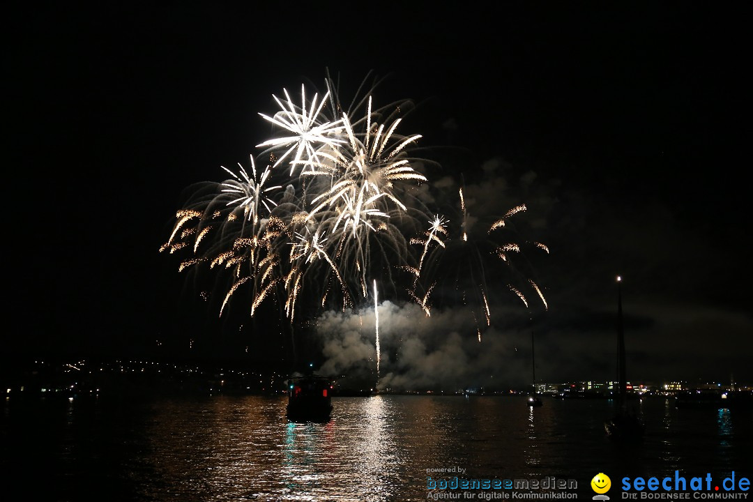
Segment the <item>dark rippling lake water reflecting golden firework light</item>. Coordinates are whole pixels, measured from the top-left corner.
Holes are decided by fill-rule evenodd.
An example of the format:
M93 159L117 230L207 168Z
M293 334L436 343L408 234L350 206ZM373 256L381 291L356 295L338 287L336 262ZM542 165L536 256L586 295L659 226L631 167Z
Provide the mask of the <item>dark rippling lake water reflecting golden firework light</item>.
M620 445L604 434L607 400L544 398L529 409L523 397L377 395L333 405L327 424L292 424L283 397L6 399L2 486L17 500L427 500L437 493L428 476L458 476L427 470L462 468L461 479L574 479L581 500L606 473L617 500L623 476L753 477L745 410L651 397L640 404L645 438Z

